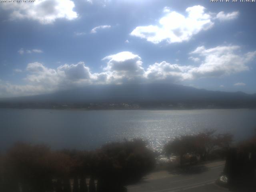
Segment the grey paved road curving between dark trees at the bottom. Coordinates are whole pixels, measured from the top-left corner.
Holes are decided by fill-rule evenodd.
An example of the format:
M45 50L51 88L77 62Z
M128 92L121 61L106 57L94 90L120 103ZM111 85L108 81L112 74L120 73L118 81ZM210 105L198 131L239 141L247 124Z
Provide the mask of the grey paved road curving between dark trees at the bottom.
M140 183L127 186L128 192L227 192L215 184L224 168L224 162L194 166L200 173L169 174L167 171L147 175Z

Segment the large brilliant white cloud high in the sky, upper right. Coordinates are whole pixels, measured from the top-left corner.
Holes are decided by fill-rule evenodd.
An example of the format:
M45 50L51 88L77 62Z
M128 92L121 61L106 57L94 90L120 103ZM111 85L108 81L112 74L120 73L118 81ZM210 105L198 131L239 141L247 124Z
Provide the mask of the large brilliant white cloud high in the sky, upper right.
M205 13L203 6L193 6L186 9L188 16L178 12L168 12L160 18L158 26L138 26L130 35L145 38L147 41L158 44L163 40L168 43L183 42L202 30L213 26L210 14Z

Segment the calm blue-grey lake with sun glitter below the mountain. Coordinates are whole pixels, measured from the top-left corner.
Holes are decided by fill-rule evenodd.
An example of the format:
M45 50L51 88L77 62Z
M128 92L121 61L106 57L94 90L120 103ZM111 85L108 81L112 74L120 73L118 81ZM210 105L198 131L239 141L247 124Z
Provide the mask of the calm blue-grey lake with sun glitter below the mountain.
M166 141L204 129L255 134L256 110L44 110L0 109L0 150L16 141L53 149L95 149L110 141L143 138L161 150Z

